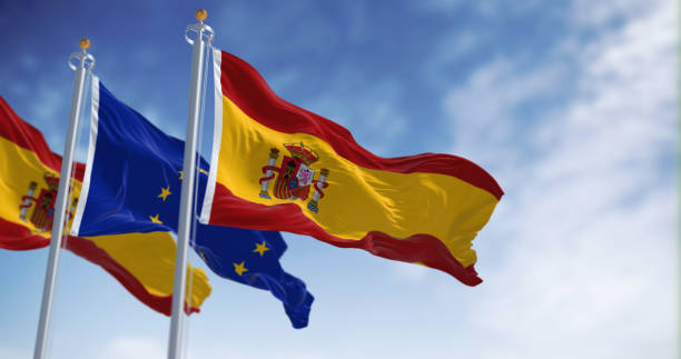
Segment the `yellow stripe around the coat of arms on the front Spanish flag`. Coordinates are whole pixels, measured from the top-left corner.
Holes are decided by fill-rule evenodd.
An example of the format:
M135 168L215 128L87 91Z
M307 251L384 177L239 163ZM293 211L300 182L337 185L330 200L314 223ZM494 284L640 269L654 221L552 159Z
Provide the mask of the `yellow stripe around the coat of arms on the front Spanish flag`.
M250 202L274 206L295 203L303 213L328 233L359 240L367 230L394 238L427 233L440 239L464 267L475 262L473 238L488 221L497 199L478 187L452 176L397 173L363 168L338 156L324 140L308 133L284 133L251 119L227 97L223 97L223 132L217 182ZM328 169L328 187L318 201L318 212L300 200L264 199L259 179L264 177L270 148L290 156L284 143L303 142L318 153L310 167L318 173ZM315 174L318 177L318 174ZM274 188L274 180L270 191ZM312 191L309 193L312 197ZM448 199L456 199L456 202ZM427 209L427 210L426 210Z

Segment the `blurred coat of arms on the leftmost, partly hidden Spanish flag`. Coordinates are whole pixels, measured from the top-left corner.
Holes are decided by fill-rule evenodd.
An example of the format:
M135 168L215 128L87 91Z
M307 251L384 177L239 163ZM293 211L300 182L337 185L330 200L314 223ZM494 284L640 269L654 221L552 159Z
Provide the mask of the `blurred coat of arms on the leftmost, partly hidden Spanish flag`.
M42 177L47 188L41 188L38 191L38 183L31 181L26 196L21 197L22 203L19 206L19 219L24 222L31 222L36 228L43 232L52 230L52 220L55 219L55 201L57 200L57 189L59 188L59 178L50 172L46 172ZM34 206L33 206L34 205ZM73 198L69 207L68 218L73 217L73 210L78 205L78 198ZM30 213L29 211L33 208Z

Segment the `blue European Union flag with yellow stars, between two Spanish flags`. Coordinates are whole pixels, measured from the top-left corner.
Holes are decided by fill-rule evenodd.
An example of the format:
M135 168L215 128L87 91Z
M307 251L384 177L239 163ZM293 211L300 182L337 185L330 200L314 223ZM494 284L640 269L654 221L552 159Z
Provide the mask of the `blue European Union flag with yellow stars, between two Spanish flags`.
M93 77L88 172L73 232L99 236L177 231L185 142L170 137L127 107ZM208 166L199 160L203 201ZM295 328L307 326L314 297L285 272L286 243L278 232L200 225L191 246L218 276L269 290Z

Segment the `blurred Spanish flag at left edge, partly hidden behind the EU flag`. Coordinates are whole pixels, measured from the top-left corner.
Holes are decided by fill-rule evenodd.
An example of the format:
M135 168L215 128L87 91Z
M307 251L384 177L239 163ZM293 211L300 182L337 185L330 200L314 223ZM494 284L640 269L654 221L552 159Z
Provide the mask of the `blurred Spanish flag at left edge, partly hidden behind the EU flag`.
M29 250L49 246L59 187L61 157L42 133L24 122L0 97L0 248ZM80 197L85 166L76 163L71 179L69 221ZM68 227L68 226L67 226ZM168 232L117 236L69 236L65 247L100 266L151 309L170 315L175 241ZM206 273L188 268L193 295L185 309L199 311L210 295Z

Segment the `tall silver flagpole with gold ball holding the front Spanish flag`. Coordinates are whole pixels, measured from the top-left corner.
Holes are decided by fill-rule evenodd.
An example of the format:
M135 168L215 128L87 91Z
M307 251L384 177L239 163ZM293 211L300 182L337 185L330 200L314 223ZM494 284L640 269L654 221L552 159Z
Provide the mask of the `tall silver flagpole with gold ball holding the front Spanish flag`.
M172 287L172 317L170 318L170 338L168 340L168 359L181 356L181 326L185 290L187 285L187 249L189 233L194 225L194 182L196 178L196 150L198 117L200 110L201 80L204 73L204 54L206 44L213 40L213 29L204 23L208 12L196 11L198 23L190 24L185 30L185 40L193 46L191 80L189 83L189 110L187 113L187 138L185 139L185 160L182 166L182 189L180 193L179 222L177 229L177 256L175 259L175 283ZM196 32L195 40L188 37ZM205 38L204 38L205 37Z

